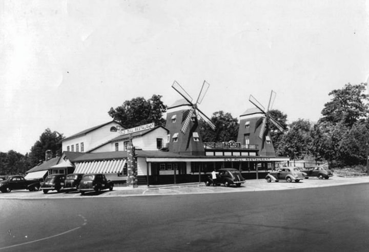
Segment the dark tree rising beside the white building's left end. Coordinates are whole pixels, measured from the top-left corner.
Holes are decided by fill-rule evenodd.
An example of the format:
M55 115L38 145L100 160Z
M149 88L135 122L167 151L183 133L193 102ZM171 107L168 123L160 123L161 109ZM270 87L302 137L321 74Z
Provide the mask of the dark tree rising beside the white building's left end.
M31 166L35 166L40 160L45 160L47 150L51 150L53 157L61 155L61 140L63 139L63 134L56 131L51 132L49 128L46 129L31 148L29 154Z

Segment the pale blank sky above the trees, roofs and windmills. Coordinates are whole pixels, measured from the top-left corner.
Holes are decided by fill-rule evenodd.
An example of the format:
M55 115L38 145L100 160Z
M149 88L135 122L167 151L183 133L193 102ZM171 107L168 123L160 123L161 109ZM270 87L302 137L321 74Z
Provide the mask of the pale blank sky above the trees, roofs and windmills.
M317 121L328 95L369 76L365 1L8 1L0 3L0 152L30 152L111 121L125 100L194 98L239 117L252 94L288 121Z

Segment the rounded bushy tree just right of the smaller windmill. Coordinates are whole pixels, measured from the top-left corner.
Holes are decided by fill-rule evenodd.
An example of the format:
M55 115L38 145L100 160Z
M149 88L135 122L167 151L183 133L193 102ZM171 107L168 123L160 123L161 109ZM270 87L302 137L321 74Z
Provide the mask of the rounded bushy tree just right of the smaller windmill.
M312 141L309 120L298 119L289 125L290 130L283 135L277 154L290 156L292 159L301 159L309 154L309 143Z

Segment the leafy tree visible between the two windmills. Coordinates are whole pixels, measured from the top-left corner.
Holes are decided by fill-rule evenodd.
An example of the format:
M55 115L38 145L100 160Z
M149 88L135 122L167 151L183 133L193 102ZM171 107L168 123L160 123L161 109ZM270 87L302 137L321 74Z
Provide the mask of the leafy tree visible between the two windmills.
M203 120L199 121L199 133L203 142L225 142L237 140L239 123L230 113L214 112L211 121L216 129L213 131Z

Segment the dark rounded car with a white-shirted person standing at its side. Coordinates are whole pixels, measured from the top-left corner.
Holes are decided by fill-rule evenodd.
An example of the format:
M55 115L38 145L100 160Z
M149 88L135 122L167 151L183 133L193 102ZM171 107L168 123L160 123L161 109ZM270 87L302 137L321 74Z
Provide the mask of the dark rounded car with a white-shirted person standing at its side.
M216 181L213 181L212 176L208 175L205 180L205 184L209 185L220 185L224 184L224 186L236 185L241 186L244 183L244 178L242 177L241 173L232 168L223 168L219 169L217 174Z

